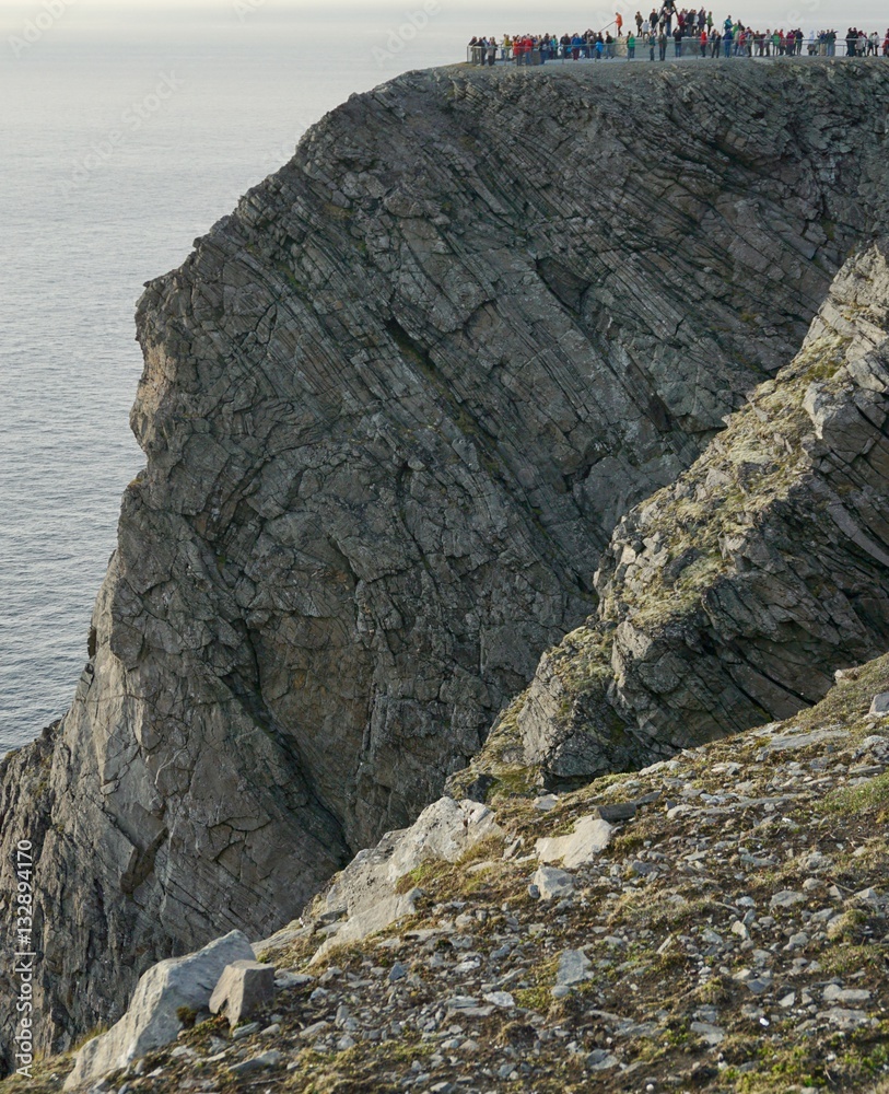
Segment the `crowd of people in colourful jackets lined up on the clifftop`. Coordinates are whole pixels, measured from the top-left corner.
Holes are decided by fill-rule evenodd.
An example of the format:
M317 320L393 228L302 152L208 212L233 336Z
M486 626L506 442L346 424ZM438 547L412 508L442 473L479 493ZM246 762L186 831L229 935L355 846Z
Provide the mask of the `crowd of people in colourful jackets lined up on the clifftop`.
M518 65L545 65L555 59L608 60L618 55L632 60L641 47L647 49L652 60L655 56L664 60L671 45L674 57L793 57L800 56L804 48L808 56L834 57L837 43L841 40L833 30L812 31L806 38L798 27L759 31L730 15L717 23L712 11L680 10L674 0L667 0L660 9L652 9L647 18L637 11L634 23L635 30L631 24L624 34L623 16L617 13L615 22L598 32L588 30L561 37L504 34L500 42L495 36L473 37L469 56L477 65L494 65L498 60ZM849 57L889 57L889 28L881 36L877 31L867 33L850 27L842 42L844 50L840 51Z

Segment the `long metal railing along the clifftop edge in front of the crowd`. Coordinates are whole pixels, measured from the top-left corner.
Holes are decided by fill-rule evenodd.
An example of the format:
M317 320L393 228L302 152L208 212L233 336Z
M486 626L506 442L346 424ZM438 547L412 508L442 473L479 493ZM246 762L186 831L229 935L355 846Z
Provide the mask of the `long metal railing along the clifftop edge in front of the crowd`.
M765 42L758 42L756 37L752 40L745 40L740 44L738 39L729 39L726 42L724 38L720 37L716 39L707 39L706 45L701 44L700 37L686 36L679 42L672 35L668 35L666 43L663 44L663 56L662 56L662 44L658 43L657 37L653 35L643 36L640 35L635 39L635 46L631 51L628 51L627 38L620 37L616 38L613 42L604 43L601 50L596 48L596 44L593 42L583 43L580 46L570 45L562 46L561 44L553 51L552 49L540 49L535 46L529 51L519 51L518 47L507 47L504 49L502 46L498 46L493 50L493 57L491 56L491 47L484 46L473 46L469 45L466 47L466 60L470 65L479 66L493 66L493 65L516 65L516 66L538 66L548 65L552 62L564 63L565 61L587 61L587 60L681 60L681 59L692 59L692 58L735 58L738 59L770 59L773 60L777 57L886 57L885 43L880 40L877 45L876 53L874 53L873 47L868 46L865 48L864 53L857 49L850 54L847 51L847 43L845 38L838 38L833 43L819 42L817 38L803 38L802 42L796 43L795 48L789 46L781 47L775 45L772 39Z

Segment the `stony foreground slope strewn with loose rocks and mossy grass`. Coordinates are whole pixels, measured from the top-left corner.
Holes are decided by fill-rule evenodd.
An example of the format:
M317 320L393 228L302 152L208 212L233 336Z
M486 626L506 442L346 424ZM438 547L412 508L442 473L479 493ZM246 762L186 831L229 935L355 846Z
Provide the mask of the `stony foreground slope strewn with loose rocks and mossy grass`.
M880 1091L889 656L839 676L785 722L501 801L499 835L424 863L416 916L321 959L307 916L264 943L254 1021L198 1023L103 1089ZM536 869L590 811L622 813L613 839Z

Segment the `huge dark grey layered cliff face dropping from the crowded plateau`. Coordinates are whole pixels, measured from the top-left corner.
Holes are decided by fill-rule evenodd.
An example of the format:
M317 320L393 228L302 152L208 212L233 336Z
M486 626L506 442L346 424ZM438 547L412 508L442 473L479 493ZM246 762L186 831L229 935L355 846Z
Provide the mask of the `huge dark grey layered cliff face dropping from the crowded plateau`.
M44 1045L437 796L885 222L887 102L856 62L414 73L149 286L90 663L0 767Z

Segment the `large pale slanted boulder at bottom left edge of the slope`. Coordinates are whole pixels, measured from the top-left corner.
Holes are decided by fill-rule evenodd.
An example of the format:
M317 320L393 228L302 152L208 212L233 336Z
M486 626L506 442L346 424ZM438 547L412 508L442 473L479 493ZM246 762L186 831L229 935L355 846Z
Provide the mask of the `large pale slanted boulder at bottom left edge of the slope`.
M107 1033L87 1040L78 1052L65 1089L94 1083L109 1071L126 1068L140 1056L175 1040L183 1028L177 1012L184 1006L207 1010L226 965L252 959L247 936L230 931L197 953L154 965L140 978L124 1017Z

